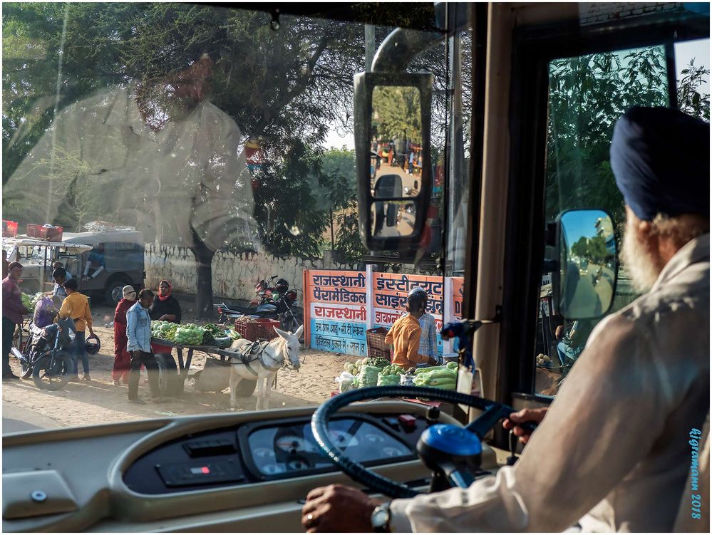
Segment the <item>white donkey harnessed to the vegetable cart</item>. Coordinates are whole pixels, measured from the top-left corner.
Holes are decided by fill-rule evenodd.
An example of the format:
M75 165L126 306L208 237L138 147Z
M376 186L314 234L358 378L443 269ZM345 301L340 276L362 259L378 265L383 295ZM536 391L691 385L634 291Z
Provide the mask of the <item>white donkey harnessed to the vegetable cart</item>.
M296 333L287 333L274 328L279 336L271 342L264 342L260 348L254 348L254 352L245 355L244 361L237 357L230 359L230 408L237 407L237 385L243 379L257 379L257 407L254 410L269 408L269 397L272 390L272 381L277 371L283 365L293 370L299 370L299 336L304 331L304 326L300 326ZM252 346L249 340L236 340L230 346L230 350L242 353ZM267 383L266 389L263 383Z

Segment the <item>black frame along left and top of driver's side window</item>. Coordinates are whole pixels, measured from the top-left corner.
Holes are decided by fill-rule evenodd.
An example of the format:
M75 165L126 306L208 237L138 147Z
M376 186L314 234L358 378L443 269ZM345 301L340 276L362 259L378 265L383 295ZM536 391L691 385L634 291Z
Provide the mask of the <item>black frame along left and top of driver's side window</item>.
M510 172L507 189L505 277L497 362L499 402L525 399L548 405L535 393L537 303L545 256L545 184L549 62L556 58L709 38L709 17L694 14L579 26L579 21L515 28L510 85ZM668 78L670 80L670 78ZM494 445L507 447L504 430Z

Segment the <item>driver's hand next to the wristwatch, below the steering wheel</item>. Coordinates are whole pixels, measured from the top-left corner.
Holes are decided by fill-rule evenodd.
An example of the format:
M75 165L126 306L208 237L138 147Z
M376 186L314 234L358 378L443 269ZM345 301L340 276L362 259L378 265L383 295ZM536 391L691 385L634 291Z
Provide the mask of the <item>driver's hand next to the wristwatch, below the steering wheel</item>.
M318 487L306 495L301 525L307 533L373 531L371 513L380 503L354 487Z

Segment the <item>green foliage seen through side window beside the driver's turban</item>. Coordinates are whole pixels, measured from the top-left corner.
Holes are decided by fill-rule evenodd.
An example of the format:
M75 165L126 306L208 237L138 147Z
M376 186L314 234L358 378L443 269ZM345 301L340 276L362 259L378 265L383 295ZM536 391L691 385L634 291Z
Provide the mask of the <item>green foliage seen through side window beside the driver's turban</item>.
M668 105L664 48L639 48L564 58L550 63L547 217L565 209L599 207L624 222L609 150L616 120L633 106ZM691 65L678 84L686 113L709 120L708 70Z

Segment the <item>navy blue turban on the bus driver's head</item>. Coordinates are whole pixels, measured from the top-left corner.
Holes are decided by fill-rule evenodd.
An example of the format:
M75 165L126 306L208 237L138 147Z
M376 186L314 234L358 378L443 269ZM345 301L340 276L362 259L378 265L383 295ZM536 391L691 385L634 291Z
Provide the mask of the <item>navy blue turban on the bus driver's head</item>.
M670 108L631 108L616 123L611 167L639 219L710 214L710 125Z

